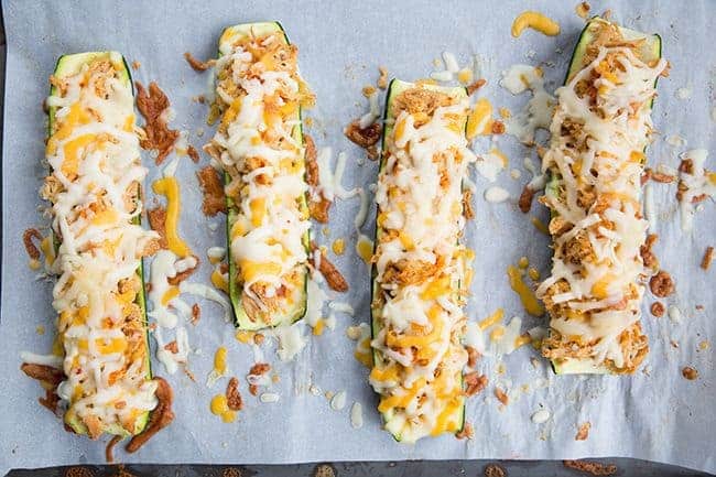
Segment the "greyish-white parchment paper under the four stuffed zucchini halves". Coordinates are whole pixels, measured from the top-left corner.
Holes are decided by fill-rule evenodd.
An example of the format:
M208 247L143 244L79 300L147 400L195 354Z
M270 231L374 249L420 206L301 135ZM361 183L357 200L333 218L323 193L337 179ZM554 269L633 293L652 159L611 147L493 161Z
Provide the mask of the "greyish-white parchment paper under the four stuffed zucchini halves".
M346 151L349 158L344 184L367 186L375 182L377 165L369 161L360 166L361 151L341 134L352 118L365 112L360 87L373 83L377 66L388 66L391 76L414 79L426 76L432 59L443 51L455 53L460 64L473 54L480 56L482 76L489 82L484 90L496 106L513 111L529 96L511 97L497 86L500 72L514 63L536 65L545 62L547 89L557 86L583 22L574 13L575 2L533 1L530 8L546 12L560 21L562 33L545 37L527 32L519 40L509 36L512 19L523 9L522 2L260 2L240 4L231 1L185 1L177 7L169 0L144 3L109 1L31 2L6 1L3 15L8 39L6 116L2 158L2 310L0 347L0 473L17 467L101 463L104 445L65 433L61 423L41 408L36 398L40 387L20 371L22 350L44 351L52 340L54 313L50 306L51 284L35 280L26 265L21 234L40 223L36 208L37 188L43 171L45 118L41 102L47 94L47 76L57 56L89 50L113 48L129 62L141 62L133 72L144 83L155 79L170 96L176 110L173 126L191 132L189 142L200 147L209 137L204 124L205 107L191 101L207 90L207 75L188 68L182 54L193 52L209 57L224 26L258 20L279 20L291 40L300 46L300 65L313 86L318 104L310 112L311 128L318 147ZM496 8L497 7L497 8ZM707 44L708 19L716 6L703 2L595 2L599 12L611 8L625 25L661 33L664 55L672 63L672 74L660 82L654 122L661 132L650 149L652 165L676 166L676 153L685 148L669 145L664 138L681 134L691 147L714 150L715 123L709 115L714 105L716 53ZM679 99L676 90L688 88L691 97ZM204 138L196 131L206 129ZM510 158L510 169L519 169L520 181L503 172L498 184L517 197L529 176L522 158L533 152L512 138L498 139ZM203 155L202 163L208 159ZM145 164L150 164L145 155ZM707 161L714 163L714 158ZM713 165L712 165L713 167ZM202 257L203 265L193 281L208 283L209 267L205 250L223 245L220 219L200 214L197 166L184 160L178 169L183 183L181 235ZM150 177L159 171L151 167ZM469 315L485 317L498 306L508 316L523 316L524 311L507 282L505 270L521 256L530 258L544 275L550 259L546 237L536 234L514 203L488 204L481 199L488 186L477 177L476 220L468 225L469 245L476 249L476 278ZM149 183L149 182L148 182ZM247 392L243 376L252 362L250 348L234 338L234 327L221 319L221 311L202 303L203 317L189 329L197 354L189 358L191 369L199 383L184 375L170 377L176 399L176 420L135 455L118 452L128 463L295 463L312 460L361 459L447 459L447 458L576 458L584 456L630 456L668 462L707 471L716 470L713 429L716 419L714 399L713 347L699 350L698 344L714 338L712 313L716 306L713 273L699 270L704 249L714 237L715 213L710 202L698 214L695 229L684 234L673 199L675 185L654 187L660 220L655 231L663 268L676 280L676 294L668 300L683 312L681 323L668 317L653 318L644 308L643 324L650 337L651 353L643 366L647 372L631 378L555 377L544 360L534 369L530 357L536 353L523 347L501 360L486 358L480 369L488 373L488 390L471 399L467 420L475 424L473 441L456 441L446 435L423 440L414 446L401 445L380 431L373 411L377 403L367 383L367 370L352 358L354 342L345 336L349 325L368 319L369 283L366 265L352 252L352 218L358 202L338 202L332 210L332 239L347 238L350 251L336 260L348 277L350 293L340 297L356 307L354 318L340 315L334 332L312 338L294 362L281 364L273 351L267 357L274 364L281 382L273 390L278 403L262 404ZM539 206L533 210L544 218ZM219 224L211 232L208 224ZM370 224L370 218L368 224ZM372 229L364 229L372 235ZM325 240L322 235L317 237ZM644 300L648 306L650 295ZM698 312L695 305L704 305ZM525 319L528 328L538 323ZM40 336L36 326L47 333ZM674 348L670 340L677 340ZM215 388L204 386L211 368L213 353L219 344L229 349L230 375L241 380L247 406L234 424L224 424L208 411L210 398L221 392L226 380ZM505 372L498 373L500 364ZM681 377L683 366L699 371L696 381ZM158 373L166 376L159 364ZM322 390L347 392L341 411L330 409L322 397L307 391L310 383ZM500 410L492 397L492 384L510 384L513 399ZM530 384L528 392L522 384ZM352 402L364 406L365 425L350 425ZM552 418L534 424L530 415L542 406ZM574 440L577 424L589 421L592 431L584 442Z

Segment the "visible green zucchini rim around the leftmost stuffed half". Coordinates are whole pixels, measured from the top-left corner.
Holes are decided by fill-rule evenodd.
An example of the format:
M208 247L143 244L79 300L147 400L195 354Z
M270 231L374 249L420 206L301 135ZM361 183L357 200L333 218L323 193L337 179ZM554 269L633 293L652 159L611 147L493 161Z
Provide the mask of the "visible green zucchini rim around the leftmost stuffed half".
M96 57L99 57L101 55L110 54L112 52L105 51L105 52L87 52L87 53L76 53L76 54L70 54L70 55L62 55L57 58L57 62L55 64L55 69L54 73L58 76L62 75L62 67L65 62L72 62L72 61L78 61L82 64L87 64L95 59ZM124 65L124 75L126 75L126 82L128 83L131 91L132 91L132 97L134 97L134 86L132 83L132 75L131 75L131 69L129 68L129 65L127 63L127 58L124 58L123 55L120 55L122 58L122 64ZM56 89L54 86L50 88L50 94L54 95L56 93ZM53 129L53 123L54 123L54 118L55 118L55 111L56 107L51 107L48 108L48 121L47 121L47 138L52 135L52 129ZM142 188L140 186L139 191L139 198L138 200L141 203L143 200L142 198ZM141 215L138 215L133 219L133 224L141 226L142 225L142 219ZM50 234L53 237L53 245L55 248L55 254L57 253L57 250L59 248L61 241L57 236L52 231L52 228L50 228ZM150 343L149 343L149 319L147 317L147 290L145 290L145 283L144 283L144 261L143 259L140 259L139 267L137 268L137 275L139 277L141 281L141 292L137 294L137 299L134 303L140 307L141 313L142 313L142 321L144 324L144 344L145 344L145 360L147 360L147 380L150 381L153 378L152 375L152 361L151 361L151 348L150 348ZM108 426L105 432L108 434L115 434L119 435L122 437L128 437L131 435L137 435L140 434L147 426L147 423L149 422L149 416L150 412L144 412L142 413L135 424L135 432L134 433L129 433L127 430L124 430L121 425L119 424L112 424ZM72 430L76 434L83 434L83 435L88 435L87 427L85 424L79 420L79 418L75 414L70 419L66 419L65 422L67 425L72 427Z

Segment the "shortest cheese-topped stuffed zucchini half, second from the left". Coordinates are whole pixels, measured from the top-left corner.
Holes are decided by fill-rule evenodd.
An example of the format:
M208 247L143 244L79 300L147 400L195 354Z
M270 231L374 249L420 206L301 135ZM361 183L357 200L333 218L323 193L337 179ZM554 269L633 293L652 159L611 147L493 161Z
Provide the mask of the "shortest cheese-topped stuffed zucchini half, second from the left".
M230 26L219 41L210 147L228 205L229 294L242 329L306 311L310 214L301 107L313 101L279 23Z

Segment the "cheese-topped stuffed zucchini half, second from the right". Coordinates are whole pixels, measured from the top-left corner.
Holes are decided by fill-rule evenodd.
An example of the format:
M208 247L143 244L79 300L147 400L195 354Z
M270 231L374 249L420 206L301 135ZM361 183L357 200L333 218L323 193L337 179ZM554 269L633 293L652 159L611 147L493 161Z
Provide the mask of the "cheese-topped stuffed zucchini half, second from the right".
M394 79L376 192L372 267L378 411L397 441L463 429L463 311L471 250L459 243L468 149L465 88Z

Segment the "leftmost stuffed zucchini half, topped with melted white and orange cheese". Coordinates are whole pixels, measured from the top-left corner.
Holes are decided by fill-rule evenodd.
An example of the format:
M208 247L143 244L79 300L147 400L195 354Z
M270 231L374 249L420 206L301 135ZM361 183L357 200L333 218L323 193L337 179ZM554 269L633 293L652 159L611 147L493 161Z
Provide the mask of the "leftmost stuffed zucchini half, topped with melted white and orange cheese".
M137 435L158 404L142 257L158 248L140 225L147 175L134 131L129 68L116 52L62 56L51 77L41 195L52 205L53 290L65 422L93 438Z

